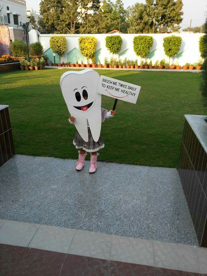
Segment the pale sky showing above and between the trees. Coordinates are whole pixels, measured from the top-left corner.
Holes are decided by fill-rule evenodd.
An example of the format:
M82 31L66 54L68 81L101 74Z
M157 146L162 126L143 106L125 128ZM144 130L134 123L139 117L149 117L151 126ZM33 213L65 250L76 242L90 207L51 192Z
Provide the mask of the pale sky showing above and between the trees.
M115 0L112 0L115 1ZM124 7L135 3L145 3L145 0L122 0ZM27 7L32 7L39 11L39 0L26 0ZM192 19L192 27L201 26L205 21L205 14L207 15L207 1L206 0L183 0L183 21L181 29L187 28Z

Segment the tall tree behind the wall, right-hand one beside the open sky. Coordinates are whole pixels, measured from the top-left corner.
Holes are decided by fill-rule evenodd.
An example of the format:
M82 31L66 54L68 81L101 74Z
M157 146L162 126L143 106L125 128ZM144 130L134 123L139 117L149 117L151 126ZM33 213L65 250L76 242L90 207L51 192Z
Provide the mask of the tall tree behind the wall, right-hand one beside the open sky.
M179 30L178 25L183 20L182 0L146 0L146 4L154 8L158 32L161 32L162 27L173 31Z

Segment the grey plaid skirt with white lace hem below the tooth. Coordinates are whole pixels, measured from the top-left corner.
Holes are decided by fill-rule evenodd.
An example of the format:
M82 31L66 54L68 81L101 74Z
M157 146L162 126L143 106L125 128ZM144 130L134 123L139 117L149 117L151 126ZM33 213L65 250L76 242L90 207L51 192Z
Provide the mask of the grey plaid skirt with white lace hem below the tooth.
M83 141L81 135L76 132L76 135L73 140L73 145L75 145L76 149L83 149L86 152L97 152L98 150L104 147L104 141L101 138L101 135L97 142L93 140L90 129L88 129L89 140L88 142Z

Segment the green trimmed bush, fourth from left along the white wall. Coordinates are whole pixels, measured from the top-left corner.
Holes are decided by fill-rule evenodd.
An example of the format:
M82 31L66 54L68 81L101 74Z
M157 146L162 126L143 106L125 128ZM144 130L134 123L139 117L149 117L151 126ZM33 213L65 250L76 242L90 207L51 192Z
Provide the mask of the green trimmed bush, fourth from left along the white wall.
M149 35L138 35L133 39L134 52L139 57L145 58L150 53L150 48L153 44L153 37Z

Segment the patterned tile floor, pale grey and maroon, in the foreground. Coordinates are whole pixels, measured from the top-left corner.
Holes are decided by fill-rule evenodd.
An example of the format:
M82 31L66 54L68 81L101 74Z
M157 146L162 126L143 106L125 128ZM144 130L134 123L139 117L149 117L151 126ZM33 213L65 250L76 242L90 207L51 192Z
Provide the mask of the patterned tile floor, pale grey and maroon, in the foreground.
M207 248L0 220L0 276L207 276Z

